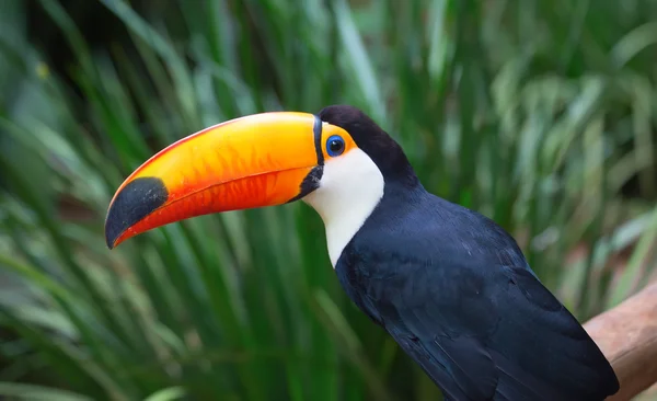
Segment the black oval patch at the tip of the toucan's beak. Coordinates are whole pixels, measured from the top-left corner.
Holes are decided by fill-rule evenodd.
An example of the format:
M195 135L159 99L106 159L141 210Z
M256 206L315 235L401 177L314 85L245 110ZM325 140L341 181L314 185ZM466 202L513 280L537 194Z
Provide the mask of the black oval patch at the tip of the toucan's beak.
M169 191L161 179L138 177L129 182L116 195L105 220L105 241L113 249L116 240L128 228L162 206Z

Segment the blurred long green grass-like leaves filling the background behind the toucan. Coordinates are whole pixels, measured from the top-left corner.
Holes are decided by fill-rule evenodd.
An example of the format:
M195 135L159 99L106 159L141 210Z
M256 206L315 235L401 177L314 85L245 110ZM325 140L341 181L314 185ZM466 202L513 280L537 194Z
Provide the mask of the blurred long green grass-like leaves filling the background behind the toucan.
M654 0L3 0L0 396L439 397L306 205L106 250L132 169L261 111L365 110L579 319L613 307L656 265L656 41Z

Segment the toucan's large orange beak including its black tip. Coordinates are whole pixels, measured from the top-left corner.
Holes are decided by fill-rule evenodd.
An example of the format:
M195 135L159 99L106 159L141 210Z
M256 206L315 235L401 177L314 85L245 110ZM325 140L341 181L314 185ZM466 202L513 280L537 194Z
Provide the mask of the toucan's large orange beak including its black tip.
M107 247L194 216L298 199L318 186L321 140L318 117L287 112L237 118L181 139L116 191L105 220Z

